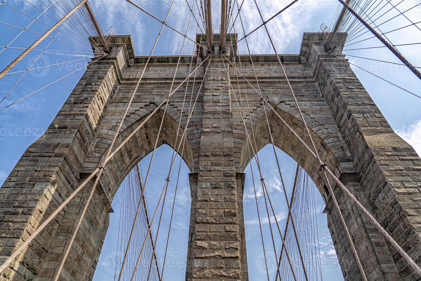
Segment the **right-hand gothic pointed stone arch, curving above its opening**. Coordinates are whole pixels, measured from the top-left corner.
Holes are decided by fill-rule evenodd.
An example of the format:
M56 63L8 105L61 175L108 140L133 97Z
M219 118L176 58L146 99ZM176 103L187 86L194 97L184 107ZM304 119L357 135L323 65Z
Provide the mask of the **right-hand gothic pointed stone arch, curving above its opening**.
M285 105L285 104L281 104ZM280 120L277 115L280 115L283 120L295 131L298 136L304 140L305 144L312 149L310 138L308 137L307 131L304 127L304 123L300 120L298 110L293 110L294 107L288 107L288 110L282 110L280 107L275 107L274 111L269 110L266 107L266 115L261 114L261 118L253 123L253 128L248 129L248 135L252 147L250 147L250 141L247 141L243 147L240 158L240 167L245 167L250 162L250 156L253 160L253 152L258 153L264 146L271 143L270 133L272 134L274 145L288 154L303 167L303 169L313 179L320 193L324 197L325 201L328 199L326 194L327 189L324 187L325 179L323 178L322 170L320 169L320 163L314 156L309 153L306 147L298 140L296 136L289 130L289 128ZM261 109L263 110L263 109ZM287 111L291 112L288 113ZM328 124L333 123L333 117L329 122L329 117L325 117L323 123L310 117L306 120L309 125L309 131L316 146L317 153L323 163L326 163L329 169L336 173L337 177L341 177L341 174L354 174L354 167L352 165L352 159L350 153L344 143L339 130L336 126ZM269 121L269 128L267 122ZM336 128L335 128L336 127ZM282 161L282 159L280 159Z

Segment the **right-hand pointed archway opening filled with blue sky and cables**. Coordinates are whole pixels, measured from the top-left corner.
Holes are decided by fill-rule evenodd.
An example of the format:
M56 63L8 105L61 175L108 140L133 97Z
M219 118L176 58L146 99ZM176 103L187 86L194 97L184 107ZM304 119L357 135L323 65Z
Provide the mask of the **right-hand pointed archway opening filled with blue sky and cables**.
M258 152L260 169L254 159L245 168L243 208L249 280L266 280L268 277L269 280L275 280L278 275L278 264L282 280L293 280L293 270L298 280L306 280L301 256L309 280L343 280L328 228L327 214L323 213L325 202L320 192L308 174L302 168L297 169L297 163L293 158L277 147L275 150L288 199L285 198L282 188L272 144L267 144ZM295 181L297 170L298 176ZM274 212L271 209L269 198L264 193L260 171L266 183L267 194L272 201ZM294 182L296 184L293 191ZM291 195L294 195L292 204ZM301 254L298 251L292 219L288 219L287 204L291 206ZM285 234L285 228L288 229L287 234ZM280 233L285 238L290 259L288 259L285 249L282 249ZM281 252L282 260L279 262ZM293 270L291 270L290 264Z

